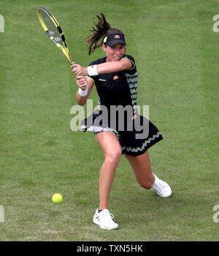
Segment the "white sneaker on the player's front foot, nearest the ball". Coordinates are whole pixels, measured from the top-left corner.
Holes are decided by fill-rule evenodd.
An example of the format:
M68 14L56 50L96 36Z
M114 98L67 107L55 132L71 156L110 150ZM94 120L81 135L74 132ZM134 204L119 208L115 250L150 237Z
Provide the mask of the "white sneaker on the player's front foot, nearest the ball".
M110 214L108 209L103 209L100 212L98 210L99 208L96 209L96 212L93 215L93 222L96 225L99 225L106 230L115 230L118 228L118 224L112 220L114 216Z

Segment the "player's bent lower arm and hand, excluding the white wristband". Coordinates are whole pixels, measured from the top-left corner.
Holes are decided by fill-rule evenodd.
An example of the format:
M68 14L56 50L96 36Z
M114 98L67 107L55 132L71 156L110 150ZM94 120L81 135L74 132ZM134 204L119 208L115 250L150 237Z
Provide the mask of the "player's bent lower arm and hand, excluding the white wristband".
M79 94L79 91L77 91L77 94L76 94L76 99L77 99L77 104L80 105L80 106L83 106L86 104L87 102L87 99L91 93L91 90L93 88L93 79L91 78L88 78L86 76L77 76L76 77L76 83L77 83L77 86L82 90L82 91L85 91L86 89L88 89L88 94L84 97L82 97L80 94Z

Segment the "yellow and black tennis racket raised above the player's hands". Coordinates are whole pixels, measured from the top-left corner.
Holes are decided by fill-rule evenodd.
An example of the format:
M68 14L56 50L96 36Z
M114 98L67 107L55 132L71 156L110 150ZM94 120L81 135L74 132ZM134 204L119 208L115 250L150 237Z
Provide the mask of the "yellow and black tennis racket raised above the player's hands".
M46 34L55 43L56 46L64 53L71 64L75 64L66 44L64 33L59 26L58 21L45 7L39 7L37 10L39 21Z

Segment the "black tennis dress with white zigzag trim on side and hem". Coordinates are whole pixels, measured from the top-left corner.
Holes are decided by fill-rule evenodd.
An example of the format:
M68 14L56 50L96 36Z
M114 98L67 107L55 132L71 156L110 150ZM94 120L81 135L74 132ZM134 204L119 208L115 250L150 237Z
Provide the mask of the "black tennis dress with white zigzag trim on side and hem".
M138 74L134 58L124 55L121 59L131 61L131 69L89 77L94 81L99 95L99 110L82 121L81 129L95 134L113 132L122 154L138 156L163 137L152 122L137 112ZM92 61L90 66L106 60L107 57Z

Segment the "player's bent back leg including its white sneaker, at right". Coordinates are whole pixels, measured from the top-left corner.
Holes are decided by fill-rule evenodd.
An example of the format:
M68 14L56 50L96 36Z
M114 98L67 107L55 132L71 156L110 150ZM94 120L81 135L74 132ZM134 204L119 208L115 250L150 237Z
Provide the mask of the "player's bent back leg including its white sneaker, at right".
M134 175L139 185L145 189L155 189L161 197L170 197L172 195L172 189L169 187L169 184L152 173L148 151L137 157L125 155L134 170Z

